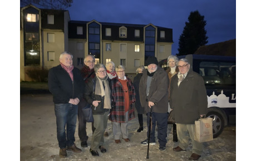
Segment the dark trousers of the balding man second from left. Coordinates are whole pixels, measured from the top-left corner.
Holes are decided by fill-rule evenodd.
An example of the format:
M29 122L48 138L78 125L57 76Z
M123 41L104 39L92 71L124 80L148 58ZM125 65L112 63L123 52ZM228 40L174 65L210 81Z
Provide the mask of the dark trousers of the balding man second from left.
M78 136L80 138L81 142L87 142L88 136L86 133L86 120L83 117L82 108L85 107L86 101L82 98L81 101L78 103L78 112L77 112L77 118L78 118ZM95 131L95 127L93 126L92 122L92 133Z

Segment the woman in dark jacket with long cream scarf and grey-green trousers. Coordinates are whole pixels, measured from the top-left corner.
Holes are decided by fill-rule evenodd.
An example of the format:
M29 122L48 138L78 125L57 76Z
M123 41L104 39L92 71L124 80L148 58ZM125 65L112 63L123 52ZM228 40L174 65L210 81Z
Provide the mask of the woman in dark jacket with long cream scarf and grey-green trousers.
M97 149L102 153L107 152L104 144L104 131L107 126L109 112L111 109L111 87L106 67L103 64L94 66L95 78L90 78L85 85L85 100L92 106L92 115L95 131L92 134L90 152L93 156L99 156Z

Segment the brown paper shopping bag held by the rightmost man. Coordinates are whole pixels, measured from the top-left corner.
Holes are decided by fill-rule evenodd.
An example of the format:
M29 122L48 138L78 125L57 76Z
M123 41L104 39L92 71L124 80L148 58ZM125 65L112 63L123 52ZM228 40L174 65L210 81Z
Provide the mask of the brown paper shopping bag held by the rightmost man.
M200 143L213 140L213 118L200 118L195 121L194 140Z

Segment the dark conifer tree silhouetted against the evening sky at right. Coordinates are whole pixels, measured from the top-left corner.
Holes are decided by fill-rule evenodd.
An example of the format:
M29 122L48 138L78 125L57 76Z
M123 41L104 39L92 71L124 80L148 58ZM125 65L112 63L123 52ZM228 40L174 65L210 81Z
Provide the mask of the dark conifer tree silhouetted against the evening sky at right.
M199 46L208 43L204 29L206 25L204 16L200 15L198 11L190 12L188 20L189 22L185 23L183 33L179 38L179 54L177 55L194 54Z

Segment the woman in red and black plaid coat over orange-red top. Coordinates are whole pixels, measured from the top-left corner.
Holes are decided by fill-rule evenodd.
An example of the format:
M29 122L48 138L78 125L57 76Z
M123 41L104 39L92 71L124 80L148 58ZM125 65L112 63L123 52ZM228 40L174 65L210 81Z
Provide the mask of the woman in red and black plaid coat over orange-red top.
M135 118L135 90L131 80L125 76L122 65L116 67L117 77L111 80L113 107L109 120L112 121L112 131L116 143L121 143L120 136L129 142L127 123Z

